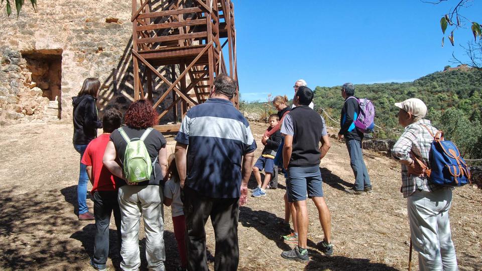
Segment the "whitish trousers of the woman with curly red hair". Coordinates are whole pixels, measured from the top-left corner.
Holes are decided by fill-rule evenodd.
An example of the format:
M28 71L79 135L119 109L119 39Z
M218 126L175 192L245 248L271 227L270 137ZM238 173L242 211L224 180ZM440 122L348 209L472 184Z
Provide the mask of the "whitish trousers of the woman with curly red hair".
M121 268L139 270L139 227L141 214L146 233L146 258L148 268L164 271L164 222L162 217L162 193L157 185L124 185L119 188L118 202L121 209Z

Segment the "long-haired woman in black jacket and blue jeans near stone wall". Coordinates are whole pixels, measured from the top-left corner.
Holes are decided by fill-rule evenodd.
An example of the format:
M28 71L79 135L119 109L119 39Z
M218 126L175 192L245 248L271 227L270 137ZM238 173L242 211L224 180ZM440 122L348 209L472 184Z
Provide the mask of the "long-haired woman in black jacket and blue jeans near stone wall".
M97 93L100 82L97 78L87 78L82 84L79 94L72 97L74 106L72 118L74 120L73 144L75 150L84 155L87 145L97 137L97 128L102 128L102 122L98 120ZM77 201L79 203L79 220L93 220L94 216L87 207L87 182L89 178L85 165L80 163L79 182L77 185Z

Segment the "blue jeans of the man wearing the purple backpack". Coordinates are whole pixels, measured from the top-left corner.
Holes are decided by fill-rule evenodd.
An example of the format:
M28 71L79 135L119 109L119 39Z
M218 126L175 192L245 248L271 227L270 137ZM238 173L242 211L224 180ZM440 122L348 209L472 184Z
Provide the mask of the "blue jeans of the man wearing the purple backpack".
M345 143L350 155L350 166L355 175L354 190L359 191L364 190L364 188L371 188L370 176L363 160L362 142L359 140L346 140Z

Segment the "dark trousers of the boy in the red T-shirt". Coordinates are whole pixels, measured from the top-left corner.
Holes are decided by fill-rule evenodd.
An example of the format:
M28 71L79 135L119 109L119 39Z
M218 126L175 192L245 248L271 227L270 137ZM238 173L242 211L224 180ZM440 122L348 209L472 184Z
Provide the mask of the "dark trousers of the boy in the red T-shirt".
M117 202L117 191L95 191L93 198L96 229L93 262L105 264L109 254L109 224L112 212L117 227L118 247L121 248L121 210Z

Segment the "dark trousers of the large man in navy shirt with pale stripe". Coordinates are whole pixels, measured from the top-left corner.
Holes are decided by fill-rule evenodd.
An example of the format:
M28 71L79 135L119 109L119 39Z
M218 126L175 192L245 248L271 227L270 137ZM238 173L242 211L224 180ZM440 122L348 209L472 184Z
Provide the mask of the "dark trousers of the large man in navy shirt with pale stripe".
M204 225L209 216L216 239L214 270L236 270L239 263L239 198L209 198L189 187L183 190L188 270L208 270Z

